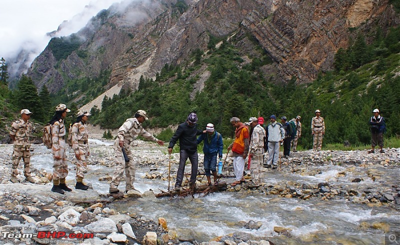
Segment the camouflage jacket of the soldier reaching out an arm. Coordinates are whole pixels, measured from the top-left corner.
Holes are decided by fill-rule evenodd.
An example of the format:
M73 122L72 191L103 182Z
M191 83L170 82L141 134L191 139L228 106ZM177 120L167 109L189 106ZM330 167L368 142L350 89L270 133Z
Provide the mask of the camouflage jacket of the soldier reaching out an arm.
M118 129L116 140L119 141L125 139L125 141L128 141L126 143L129 144L136 139L137 135L141 135L148 140L158 141L156 137L143 129L143 126L136 118L126 119L126 121Z

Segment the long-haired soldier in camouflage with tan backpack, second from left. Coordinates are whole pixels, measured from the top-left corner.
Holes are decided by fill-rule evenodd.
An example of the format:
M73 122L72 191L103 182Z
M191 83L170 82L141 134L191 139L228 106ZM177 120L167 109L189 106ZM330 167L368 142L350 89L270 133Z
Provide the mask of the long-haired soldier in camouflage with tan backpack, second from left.
M65 125L64 118L66 112L71 111L65 104L58 104L55 107L55 114L50 120L52 133L51 153L53 154L53 187L51 191L64 193L64 190L72 189L66 186L65 178L68 175L68 165L66 163L66 144L65 144Z

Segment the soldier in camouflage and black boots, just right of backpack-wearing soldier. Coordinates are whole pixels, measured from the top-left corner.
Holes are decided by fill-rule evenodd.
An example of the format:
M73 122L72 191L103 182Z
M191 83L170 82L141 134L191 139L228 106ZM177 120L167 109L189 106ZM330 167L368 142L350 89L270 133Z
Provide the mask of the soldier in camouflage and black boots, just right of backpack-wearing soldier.
M88 132L86 121L91 114L86 111L77 113L76 122L72 124L72 149L76 157L76 184L75 189L86 190L89 186L83 183L84 173L87 171L87 160L89 155L89 146L87 144Z

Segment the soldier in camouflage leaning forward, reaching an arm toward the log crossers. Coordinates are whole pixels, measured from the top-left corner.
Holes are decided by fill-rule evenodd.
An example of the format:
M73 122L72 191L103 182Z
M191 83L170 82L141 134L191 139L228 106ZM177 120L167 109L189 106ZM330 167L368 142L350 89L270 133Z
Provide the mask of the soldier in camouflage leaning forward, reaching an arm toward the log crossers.
M143 129L141 123L147 119L146 112L144 110L138 110L136 111L134 118L126 119L122 126L119 127L118 134L113 145L115 152L115 171L109 184L110 193L119 192L118 185L121 182L124 171L126 179L125 192L134 189L133 182L135 176L135 162L133 160L130 143L137 137L137 135L141 135L148 140L155 141L161 146L164 145L162 140L157 139ZM129 161L125 161L124 159L122 147L124 148Z

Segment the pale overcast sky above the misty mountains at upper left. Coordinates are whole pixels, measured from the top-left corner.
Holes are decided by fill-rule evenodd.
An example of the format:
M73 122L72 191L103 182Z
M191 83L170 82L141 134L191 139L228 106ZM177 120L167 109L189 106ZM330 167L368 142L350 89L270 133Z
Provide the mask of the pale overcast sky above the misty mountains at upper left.
M59 36L69 35L113 2L120 0L1 0L0 57L7 62L22 48L33 51L35 57L50 39L46 33L56 30L62 21L68 20L68 24Z

